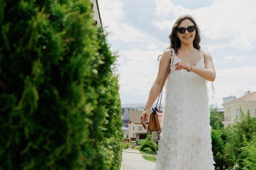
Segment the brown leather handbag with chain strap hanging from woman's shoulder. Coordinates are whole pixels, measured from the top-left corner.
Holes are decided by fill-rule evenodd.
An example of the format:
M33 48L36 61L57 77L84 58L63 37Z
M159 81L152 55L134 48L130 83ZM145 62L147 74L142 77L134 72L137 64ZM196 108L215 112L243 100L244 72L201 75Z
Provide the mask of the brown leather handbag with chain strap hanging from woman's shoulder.
M166 75L168 73L168 69L169 69L169 66L171 64L172 58L173 58L173 51L171 51L171 59L170 59L170 62L168 64L165 76L164 76L164 81L166 79ZM160 110L161 101L162 101L163 87L164 87L164 82L162 84L162 88L161 88L161 91L160 91L160 93L158 95L158 99L157 99L157 104L158 104L158 101L159 101L159 98L160 98L159 110ZM162 123L163 114L158 111L157 104L154 108L152 108L153 112L151 113L150 119L149 119L149 122L148 122L148 130L150 130L150 131L161 131L162 130L160 124Z

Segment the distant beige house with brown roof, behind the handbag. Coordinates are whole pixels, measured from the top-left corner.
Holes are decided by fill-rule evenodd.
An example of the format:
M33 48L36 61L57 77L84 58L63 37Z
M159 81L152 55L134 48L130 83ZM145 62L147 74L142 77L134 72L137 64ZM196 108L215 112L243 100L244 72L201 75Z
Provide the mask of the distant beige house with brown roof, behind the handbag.
M130 111L129 114L130 120L128 121L128 138L131 138L133 141L137 139L145 139L148 132L150 132L148 129L144 129L141 124L140 117L142 113L143 111ZM155 142L158 142L159 132L152 132L152 139Z

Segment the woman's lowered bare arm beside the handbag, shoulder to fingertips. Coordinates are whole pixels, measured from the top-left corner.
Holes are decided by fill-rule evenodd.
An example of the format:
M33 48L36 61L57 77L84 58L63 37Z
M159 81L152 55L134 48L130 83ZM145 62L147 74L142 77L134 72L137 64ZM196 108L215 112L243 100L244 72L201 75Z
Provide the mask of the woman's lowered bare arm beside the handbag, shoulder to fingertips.
M148 101L146 103L146 108L151 108L151 106L154 104L155 100L157 99L157 97L161 91L163 81L164 81L164 84L166 82L166 79L170 72L170 68L168 68L170 59L171 59L171 51L164 52L161 57L160 63L159 63L157 77L156 77L155 82L153 83L153 85L150 89L149 95L148 95ZM165 76L167 68L168 68L168 71L166 74L166 78L164 80L164 76ZM149 113L150 113L150 110L147 109L147 110L144 110L143 114L141 115L141 124L143 125L143 127L145 129L147 128L146 121L148 120Z

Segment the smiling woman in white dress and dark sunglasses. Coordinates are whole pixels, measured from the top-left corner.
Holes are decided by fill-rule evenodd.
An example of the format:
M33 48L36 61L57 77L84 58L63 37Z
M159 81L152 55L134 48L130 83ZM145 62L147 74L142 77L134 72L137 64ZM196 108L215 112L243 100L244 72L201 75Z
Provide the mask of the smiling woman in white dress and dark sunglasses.
M209 52L200 49L200 30L190 15L178 18L161 57L141 124L146 129L150 108L159 95L170 57L163 127L156 170L214 170L206 80L216 77Z

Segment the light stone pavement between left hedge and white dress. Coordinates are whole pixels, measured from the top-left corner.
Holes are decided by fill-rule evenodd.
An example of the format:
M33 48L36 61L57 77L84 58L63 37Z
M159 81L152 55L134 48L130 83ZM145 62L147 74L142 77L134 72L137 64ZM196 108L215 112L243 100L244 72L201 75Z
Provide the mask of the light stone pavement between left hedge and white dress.
M145 160L138 150L123 150L121 170L155 170L155 162Z

